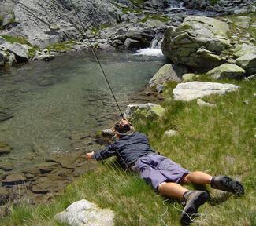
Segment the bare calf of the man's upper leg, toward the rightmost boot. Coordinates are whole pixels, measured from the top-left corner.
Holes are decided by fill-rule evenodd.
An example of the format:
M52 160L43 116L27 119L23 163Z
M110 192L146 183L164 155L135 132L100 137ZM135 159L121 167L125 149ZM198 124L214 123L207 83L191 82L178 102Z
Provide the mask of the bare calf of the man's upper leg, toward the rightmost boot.
M184 177L183 183L195 183L195 184L210 184L210 181L212 180L212 176L210 176L207 173L203 173L200 171L195 171L187 174L186 177Z

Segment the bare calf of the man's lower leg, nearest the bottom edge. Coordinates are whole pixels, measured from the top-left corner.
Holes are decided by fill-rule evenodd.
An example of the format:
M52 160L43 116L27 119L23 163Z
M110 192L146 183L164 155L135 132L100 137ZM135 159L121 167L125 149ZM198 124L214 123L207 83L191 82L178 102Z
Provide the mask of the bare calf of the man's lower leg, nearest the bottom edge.
M169 196L175 199L182 199L187 188L182 187L180 184L168 182L159 184L158 191L161 195Z

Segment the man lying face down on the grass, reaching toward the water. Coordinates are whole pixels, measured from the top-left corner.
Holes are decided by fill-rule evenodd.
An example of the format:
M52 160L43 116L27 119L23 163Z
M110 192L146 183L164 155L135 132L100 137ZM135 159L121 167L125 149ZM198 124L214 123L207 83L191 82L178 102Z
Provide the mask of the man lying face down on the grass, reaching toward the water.
M180 218L182 225L191 223L193 214L197 213L199 206L204 204L210 195L206 191L189 191L181 184L210 184L212 188L229 191L235 195L244 193L243 185L228 176L212 177L199 171L190 172L159 155L150 148L146 135L135 132L127 120L117 122L113 130L118 139L102 151L87 153L86 159L101 161L117 156L117 162L121 166L139 172L140 177L161 195L184 199L186 204Z

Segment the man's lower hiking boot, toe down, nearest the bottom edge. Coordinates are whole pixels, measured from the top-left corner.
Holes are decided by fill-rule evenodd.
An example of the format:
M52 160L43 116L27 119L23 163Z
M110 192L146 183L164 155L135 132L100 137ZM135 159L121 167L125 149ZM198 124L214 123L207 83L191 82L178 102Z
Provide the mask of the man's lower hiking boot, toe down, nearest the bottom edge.
M199 206L202 206L210 195L206 191L187 191L184 194L186 205L181 213L180 224L182 226L189 225L192 222L192 217L198 212Z

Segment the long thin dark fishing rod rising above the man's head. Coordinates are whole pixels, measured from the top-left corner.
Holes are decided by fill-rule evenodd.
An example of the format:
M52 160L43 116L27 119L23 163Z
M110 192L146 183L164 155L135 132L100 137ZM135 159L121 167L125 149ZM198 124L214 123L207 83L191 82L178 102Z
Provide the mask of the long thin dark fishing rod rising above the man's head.
M120 105L119 105L118 102L117 102L117 98L116 98L115 94L113 93L113 89L112 89L112 87L110 86L109 79L107 78L106 73L105 73L105 71L104 71L104 69L103 69L103 67L102 67L102 64L100 63L100 61L99 61L99 59L98 59L97 53L95 52L95 49L94 49L94 46L92 46L92 44L91 44L91 39L88 37L87 32L86 32L86 29L83 27L83 23L82 23L82 21L80 20L80 16L76 13L76 9L75 9L74 5L72 4L71 0L69 0L69 2L70 2L70 5L72 6L72 9L73 9L74 13L76 14L76 17L77 17L78 22L80 23L80 26L82 27L82 30L83 30L83 37L86 37L86 38L87 38L87 40L88 40L88 42L89 42L89 44L90 44L90 47L91 47L91 51L92 51L92 53L93 53L93 55L94 55L94 57L95 57L95 60L96 60L97 63L98 63L98 67L99 67L100 70L102 71L102 75L103 75L103 77L105 78L107 85L109 86L110 92L111 92L111 94L112 94L112 96L113 96L113 100L114 100L115 103L117 104L118 111L119 111L120 114L121 114L120 117L124 119L124 114L123 114L123 112L121 111ZM91 19L91 16L90 16L89 19Z

